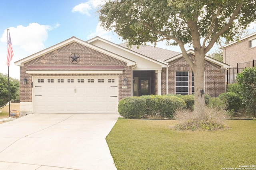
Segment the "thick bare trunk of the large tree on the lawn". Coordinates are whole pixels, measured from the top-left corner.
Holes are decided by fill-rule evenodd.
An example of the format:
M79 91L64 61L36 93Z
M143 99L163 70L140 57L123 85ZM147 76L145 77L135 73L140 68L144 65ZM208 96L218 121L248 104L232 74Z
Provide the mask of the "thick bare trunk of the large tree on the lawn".
M194 85L195 85L195 112L204 113L204 51L195 51Z

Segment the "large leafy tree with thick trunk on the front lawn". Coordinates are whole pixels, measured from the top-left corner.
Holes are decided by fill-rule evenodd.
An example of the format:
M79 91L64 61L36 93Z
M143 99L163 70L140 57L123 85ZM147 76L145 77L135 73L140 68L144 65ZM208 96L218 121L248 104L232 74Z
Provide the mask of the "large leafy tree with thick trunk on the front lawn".
M220 38L231 40L255 21L255 0L108 0L101 25L129 45L166 40L178 45L194 71L195 111L204 111L204 57ZM194 48L193 62L184 45Z

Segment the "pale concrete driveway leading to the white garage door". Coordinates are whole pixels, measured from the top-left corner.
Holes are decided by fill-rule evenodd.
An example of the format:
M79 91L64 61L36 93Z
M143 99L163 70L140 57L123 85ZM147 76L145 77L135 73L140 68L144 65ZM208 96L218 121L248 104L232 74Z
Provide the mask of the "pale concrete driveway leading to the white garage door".
M118 117L31 114L0 124L0 169L116 170L105 138Z

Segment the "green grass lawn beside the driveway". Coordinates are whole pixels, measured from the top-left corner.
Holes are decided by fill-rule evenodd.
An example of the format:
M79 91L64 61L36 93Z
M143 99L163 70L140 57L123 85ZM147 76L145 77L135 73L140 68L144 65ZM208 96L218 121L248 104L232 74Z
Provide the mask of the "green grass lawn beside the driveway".
M177 131L177 121L118 119L106 140L118 170L220 170L256 165L256 120L229 130Z

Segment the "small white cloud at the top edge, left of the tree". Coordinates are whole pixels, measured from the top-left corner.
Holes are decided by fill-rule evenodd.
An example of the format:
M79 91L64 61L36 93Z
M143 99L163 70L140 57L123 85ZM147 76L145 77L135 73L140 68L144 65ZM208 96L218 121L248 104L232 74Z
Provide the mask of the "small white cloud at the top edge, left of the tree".
M103 0L89 0L87 2L74 6L72 12L80 12L81 14L90 15L90 10L96 9L99 5L104 4Z

